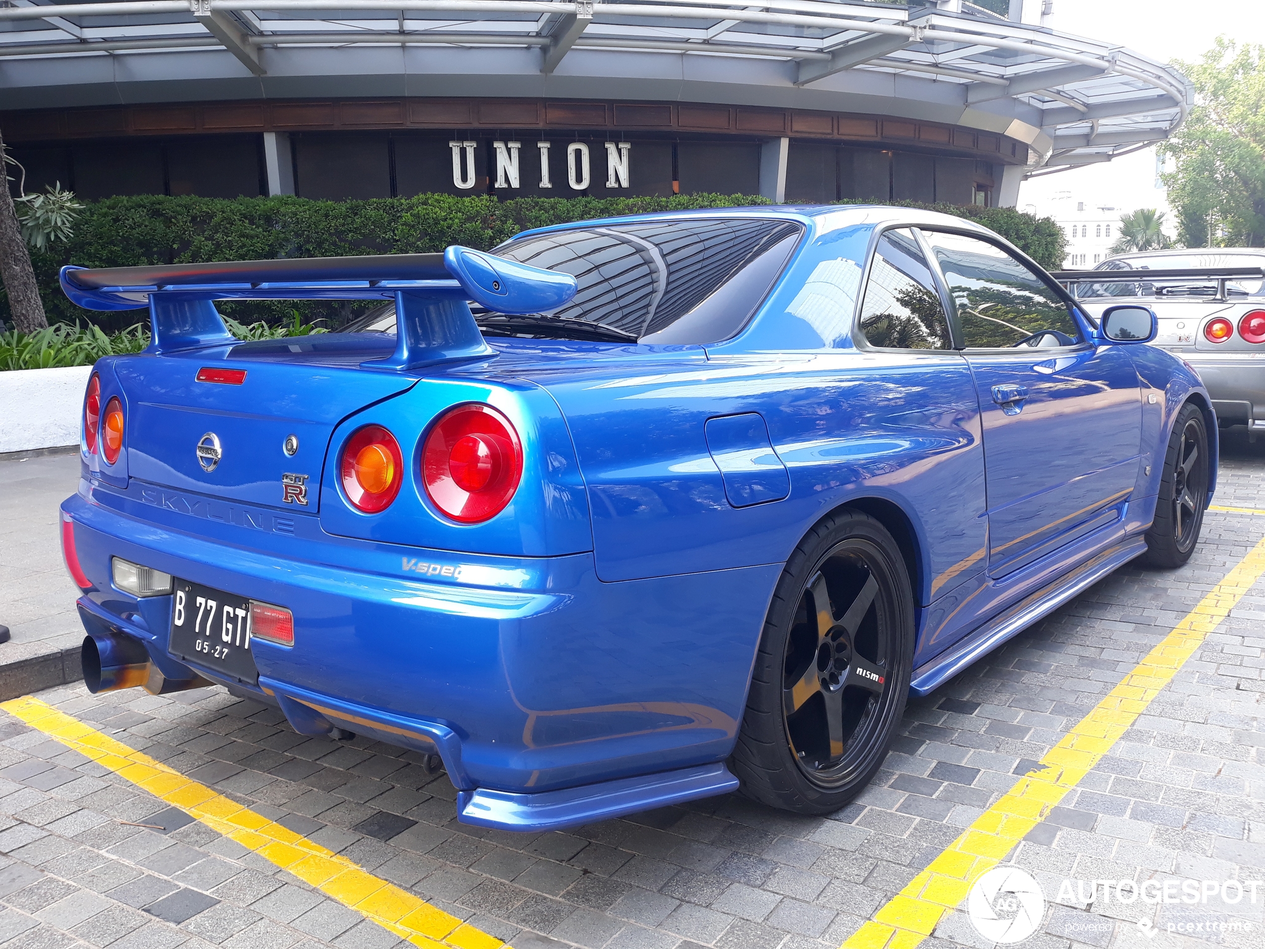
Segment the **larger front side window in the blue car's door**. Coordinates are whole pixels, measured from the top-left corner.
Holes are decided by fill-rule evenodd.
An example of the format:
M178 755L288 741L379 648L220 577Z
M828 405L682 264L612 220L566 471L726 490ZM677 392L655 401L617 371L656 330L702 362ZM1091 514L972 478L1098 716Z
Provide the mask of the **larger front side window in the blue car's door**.
M949 285L968 349L1082 342L1068 304L1027 264L987 240L925 234Z

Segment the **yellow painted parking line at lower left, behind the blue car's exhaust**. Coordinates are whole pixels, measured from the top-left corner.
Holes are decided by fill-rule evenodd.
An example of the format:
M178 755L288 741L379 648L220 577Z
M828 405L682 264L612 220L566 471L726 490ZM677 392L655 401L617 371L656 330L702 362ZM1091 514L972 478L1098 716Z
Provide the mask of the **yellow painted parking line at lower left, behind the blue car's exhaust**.
M0 704L0 709L180 807L414 945L428 949L445 945L453 949L498 949L503 945L500 939L467 925L407 890L374 877L345 857L191 781L47 702L24 696Z

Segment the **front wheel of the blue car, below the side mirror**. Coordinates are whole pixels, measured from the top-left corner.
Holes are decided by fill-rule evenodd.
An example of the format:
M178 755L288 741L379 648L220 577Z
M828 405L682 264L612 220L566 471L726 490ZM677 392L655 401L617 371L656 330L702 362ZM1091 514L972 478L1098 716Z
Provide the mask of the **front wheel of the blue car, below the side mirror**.
M1146 563L1180 567L1190 559L1208 504L1208 429L1199 406L1187 402L1164 452L1155 520L1146 531Z

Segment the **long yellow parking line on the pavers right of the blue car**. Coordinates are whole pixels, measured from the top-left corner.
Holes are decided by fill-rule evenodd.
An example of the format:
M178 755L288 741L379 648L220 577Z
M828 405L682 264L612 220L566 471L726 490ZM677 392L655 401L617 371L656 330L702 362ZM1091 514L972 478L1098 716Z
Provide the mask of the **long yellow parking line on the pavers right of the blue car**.
M1001 863L1107 754L1262 573L1265 540L1050 749L1041 771L1020 778L856 930L844 949L913 949L931 935L940 917L966 898L972 883Z

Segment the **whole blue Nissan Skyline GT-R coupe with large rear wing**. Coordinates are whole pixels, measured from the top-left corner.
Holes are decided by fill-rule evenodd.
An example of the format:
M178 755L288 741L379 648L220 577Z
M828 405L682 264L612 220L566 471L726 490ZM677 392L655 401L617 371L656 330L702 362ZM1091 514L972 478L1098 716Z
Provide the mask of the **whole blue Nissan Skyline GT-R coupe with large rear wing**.
M755 208L493 253L66 268L148 306L62 505L91 691L219 683L439 755L460 820L855 796L923 695L1189 558L1208 394L964 220ZM216 300L378 300L242 343Z

